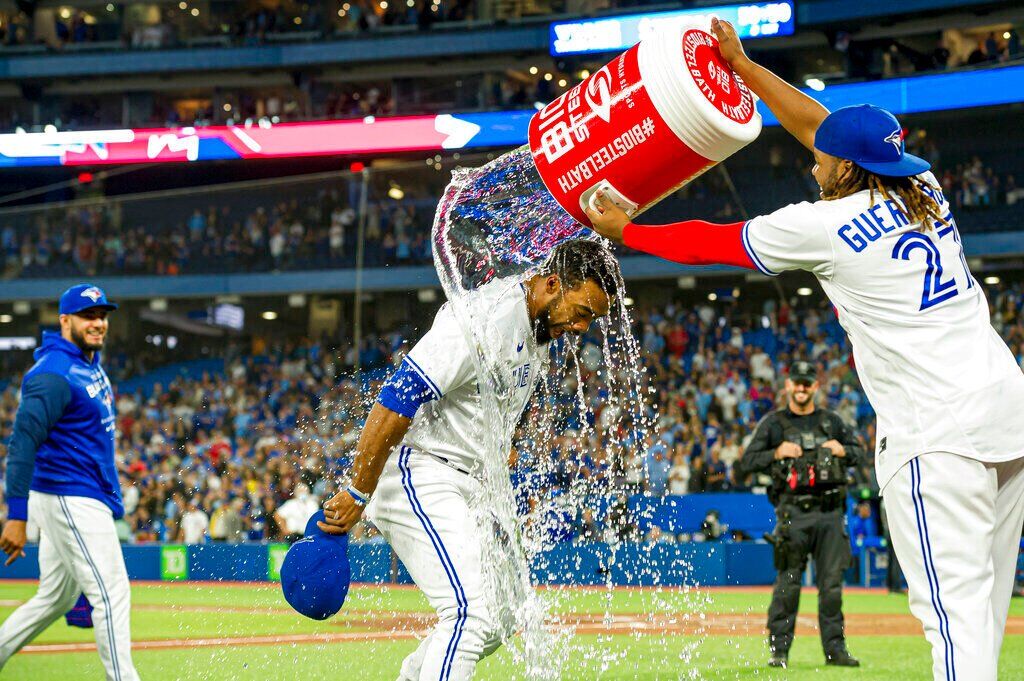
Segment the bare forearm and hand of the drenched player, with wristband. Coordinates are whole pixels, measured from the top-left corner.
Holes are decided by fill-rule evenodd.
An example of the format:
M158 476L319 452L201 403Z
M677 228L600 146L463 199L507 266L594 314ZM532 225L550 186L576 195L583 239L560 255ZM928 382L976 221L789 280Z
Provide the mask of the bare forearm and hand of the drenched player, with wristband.
M351 485L324 504L327 522L316 523L321 529L329 535L344 535L359 521L366 499L377 490L377 481L391 450L406 436L412 423L413 419L392 412L380 402L374 405L355 445Z

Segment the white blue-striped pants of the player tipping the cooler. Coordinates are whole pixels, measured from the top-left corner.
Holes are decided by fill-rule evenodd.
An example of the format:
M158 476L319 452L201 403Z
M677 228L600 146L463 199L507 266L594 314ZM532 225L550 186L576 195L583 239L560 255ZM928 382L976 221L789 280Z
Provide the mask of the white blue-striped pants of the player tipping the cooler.
M934 678L995 681L1024 526L1024 459L925 454L883 496Z

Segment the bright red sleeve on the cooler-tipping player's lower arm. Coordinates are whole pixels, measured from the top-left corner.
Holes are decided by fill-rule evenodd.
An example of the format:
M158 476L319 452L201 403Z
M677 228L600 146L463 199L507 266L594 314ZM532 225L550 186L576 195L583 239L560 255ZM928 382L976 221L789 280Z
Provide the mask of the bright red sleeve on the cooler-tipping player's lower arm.
M623 242L632 249L686 265L734 265L757 269L743 248L745 222L684 220L644 226L630 222Z

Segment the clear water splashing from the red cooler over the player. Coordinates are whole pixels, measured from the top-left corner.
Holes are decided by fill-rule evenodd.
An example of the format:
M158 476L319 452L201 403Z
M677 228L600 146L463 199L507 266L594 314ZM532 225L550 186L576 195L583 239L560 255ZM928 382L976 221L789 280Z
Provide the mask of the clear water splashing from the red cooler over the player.
M628 310L613 305L612 313L598 325L600 346L565 338L553 344L552 366L564 370L549 372L520 425L518 413L503 409L513 384L498 346L488 340L499 334L490 310L479 308L479 298L470 294L495 279L527 279L557 245L581 238L598 239L550 196L525 146L481 168L457 169L433 226L435 265L463 333L476 350L477 382L487 414L478 432L483 445L481 492L469 506L480 528L482 555L487 557L483 569L489 606L502 624L505 644L527 678L559 678L570 644L569 628L548 626L550 608L559 600L557 590L539 594L532 588L530 567L547 577L545 581L586 582L571 574L570 566L549 564L545 552L564 531L566 518L575 513L621 503L625 515L624 455L630 448L642 446L650 425L644 372ZM625 295L622 281L617 285ZM593 391L585 386L595 375L606 393L588 394ZM602 416L591 424L588 414L595 407ZM538 478L544 479L564 463L554 460L551 445L565 437L567 420L577 426L569 429L574 435L565 442L571 456L588 455L602 474L570 476L568 488L558 497L543 488L534 490L539 494L530 497L529 484L525 491L513 488L507 462L517 432L520 457L531 462ZM517 497L523 494L532 508L520 516ZM621 541L636 538L611 531L604 539L610 547L603 569L604 619L610 622L616 549ZM602 669L622 654L600 640L595 649L585 651L585 657L599 661Z

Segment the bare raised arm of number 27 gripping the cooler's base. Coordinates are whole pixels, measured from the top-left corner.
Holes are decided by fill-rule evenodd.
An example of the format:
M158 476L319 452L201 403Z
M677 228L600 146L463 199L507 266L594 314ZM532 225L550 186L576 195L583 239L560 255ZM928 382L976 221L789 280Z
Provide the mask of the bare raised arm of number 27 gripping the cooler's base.
M764 67L751 60L728 22L712 19L711 30L718 38L722 57L743 79L754 94L775 114L779 123L808 150L814 148L814 133L828 110L793 87Z

